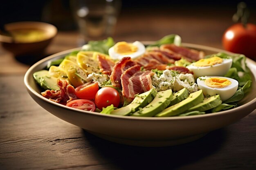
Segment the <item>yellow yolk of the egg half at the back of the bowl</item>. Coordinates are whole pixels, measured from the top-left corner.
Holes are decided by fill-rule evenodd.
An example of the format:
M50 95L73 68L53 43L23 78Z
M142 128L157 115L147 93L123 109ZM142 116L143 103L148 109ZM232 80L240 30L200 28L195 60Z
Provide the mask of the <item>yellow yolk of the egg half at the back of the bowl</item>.
M130 54L138 50L138 47L127 42L117 42L114 51L119 54Z

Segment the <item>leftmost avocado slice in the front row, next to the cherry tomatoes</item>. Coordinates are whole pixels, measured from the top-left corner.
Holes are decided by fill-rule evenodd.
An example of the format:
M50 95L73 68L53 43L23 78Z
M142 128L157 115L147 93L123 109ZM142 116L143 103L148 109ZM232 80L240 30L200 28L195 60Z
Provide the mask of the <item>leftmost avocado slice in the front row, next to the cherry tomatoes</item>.
M143 108L147 106L155 98L156 95L157 91L155 88L151 88L150 91L136 95L135 99L133 99L133 101L127 106L113 110L110 114L126 116L130 113L134 113L139 109L139 107Z

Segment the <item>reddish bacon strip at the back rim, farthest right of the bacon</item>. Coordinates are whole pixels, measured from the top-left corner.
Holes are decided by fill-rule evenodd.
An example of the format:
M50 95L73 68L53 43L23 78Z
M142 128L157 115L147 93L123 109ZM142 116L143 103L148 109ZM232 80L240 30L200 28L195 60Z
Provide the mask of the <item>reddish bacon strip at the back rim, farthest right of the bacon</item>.
M160 46L161 51L173 51L174 53L183 55L189 61L198 61L204 57L204 52L193 49L188 49L174 44L163 44Z

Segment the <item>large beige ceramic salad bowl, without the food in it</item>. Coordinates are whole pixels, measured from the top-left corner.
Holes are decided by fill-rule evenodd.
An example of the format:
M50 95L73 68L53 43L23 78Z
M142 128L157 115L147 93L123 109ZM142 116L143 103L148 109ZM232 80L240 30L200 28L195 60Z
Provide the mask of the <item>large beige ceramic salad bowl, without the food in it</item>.
M183 43L182 45L202 50L206 54L229 53L196 44ZM74 50L78 49L51 55L31 66L25 74L25 86L29 95L49 113L109 141L146 147L184 144L199 139L208 132L232 124L256 108L256 62L248 58L247 65L253 73L250 94L240 101L240 106L237 108L218 113L185 117L129 117L79 110L49 101L40 94L41 90L32 75L35 71L45 68L47 62L64 57Z

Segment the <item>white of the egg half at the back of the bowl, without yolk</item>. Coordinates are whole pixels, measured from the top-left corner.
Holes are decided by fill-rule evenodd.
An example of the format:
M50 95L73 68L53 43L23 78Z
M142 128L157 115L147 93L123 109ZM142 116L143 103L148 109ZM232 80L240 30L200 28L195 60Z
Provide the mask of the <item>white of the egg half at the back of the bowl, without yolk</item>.
M119 54L116 53L114 50L114 46L112 46L109 50L108 50L108 54L109 56L114 59L114 60L121 60L123 57L131 57L132 59L135 59L137 57L139 57L140 55L143 55L146 51L146 48L144 46L144 44L142 44L139 41L135 41L132 43L132 45L137 46L138 50L134 53L130 53L130 54Z

